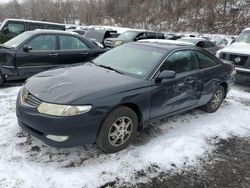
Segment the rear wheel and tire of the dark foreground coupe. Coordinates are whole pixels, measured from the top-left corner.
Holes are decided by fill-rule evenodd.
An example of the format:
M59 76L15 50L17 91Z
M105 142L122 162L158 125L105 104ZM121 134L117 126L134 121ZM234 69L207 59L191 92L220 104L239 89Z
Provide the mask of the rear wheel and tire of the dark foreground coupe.
M203 110L208 113L216 112L220 108L224 97L225 97L225 89L223 86L220 85L215 90L210 101L205 106L203 106Z

